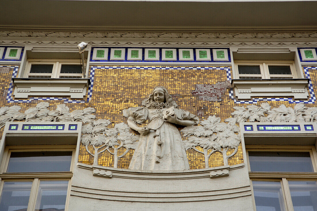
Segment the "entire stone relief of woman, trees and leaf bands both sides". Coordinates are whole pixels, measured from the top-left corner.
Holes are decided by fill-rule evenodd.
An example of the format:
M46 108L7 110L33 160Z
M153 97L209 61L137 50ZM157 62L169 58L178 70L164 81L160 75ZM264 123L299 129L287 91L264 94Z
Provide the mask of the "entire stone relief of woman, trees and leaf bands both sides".
M65 104L59 104L55 110L49 110L48 102L40 102L24 113L19 112L20 106L1 107L0 128L6 122L13 121L83 122L81 143L94 157L94 165L98 165L98 155L107 150L113 155L113 167L117 168L120 158L130 149L136 149L130 163L131 169L180 170L189 169L185 152L187 149L204 154L205 168L208 168L209 157L217 151L222 153L224 165L228 165L228 159L235 155L240 143L237 123L317 122L316 107L306 107L305 104L298 103L294 109L284 104L271 108L268 103L262 103L261 106L235 106L232 117L225 119L228 123L221 122L219 117L209 116L199 126L194 126L199 122L198 117L178 109L164 87L156 87L149 98L142 101L142 105L143 107L123 111L124 116L128 117L129 126L137 130L140 136L130 133L126 123L121 122L109 128L110 120L95 120L94 108L70 112ZM136 123L143 123L146 119L150 119L146 127L137 126ZM181 140L175 124L187 126L181 129L187 138L184 141ZM93 153L89 146L94 149ZM203 148L203 151L198 150L197 146ZM118 155L120 148L124 151ZM234 151L227 155L229 149Z

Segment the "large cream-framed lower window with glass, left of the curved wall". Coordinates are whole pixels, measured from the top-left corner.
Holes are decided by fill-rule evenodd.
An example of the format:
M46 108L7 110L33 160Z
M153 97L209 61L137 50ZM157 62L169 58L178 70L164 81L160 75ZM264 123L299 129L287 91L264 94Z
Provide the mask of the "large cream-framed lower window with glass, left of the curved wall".
M65 210L74 146L7 146L1 165L0 210Z

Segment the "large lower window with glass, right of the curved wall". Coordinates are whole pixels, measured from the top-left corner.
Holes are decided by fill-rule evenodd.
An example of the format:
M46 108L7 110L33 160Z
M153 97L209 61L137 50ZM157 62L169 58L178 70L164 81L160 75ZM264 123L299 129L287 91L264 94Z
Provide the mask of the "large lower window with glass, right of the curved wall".
M256 210L317 210L314 146L246 148Z

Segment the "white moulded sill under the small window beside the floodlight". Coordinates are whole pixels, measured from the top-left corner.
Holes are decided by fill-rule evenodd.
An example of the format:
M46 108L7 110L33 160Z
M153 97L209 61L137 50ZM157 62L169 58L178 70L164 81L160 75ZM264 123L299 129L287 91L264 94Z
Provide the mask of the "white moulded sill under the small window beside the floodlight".
M13 78L15 98L29 96L70 96L83 99L88 78Z

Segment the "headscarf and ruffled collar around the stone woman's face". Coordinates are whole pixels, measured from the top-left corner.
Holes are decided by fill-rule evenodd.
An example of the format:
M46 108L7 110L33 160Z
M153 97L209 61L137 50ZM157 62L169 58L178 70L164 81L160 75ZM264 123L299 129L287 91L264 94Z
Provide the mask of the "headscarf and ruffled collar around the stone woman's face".
M162 91L165 95L165 102L155 102L154 101L154 92L156 91ZM177 107L176 102L172 99L172 97L168 94L167 89L162 86L157 86L154 87L152 94L149 95L149 97L145 100L142 101L142 105L146 106L148 108L170 108L174 106L175 108Z

